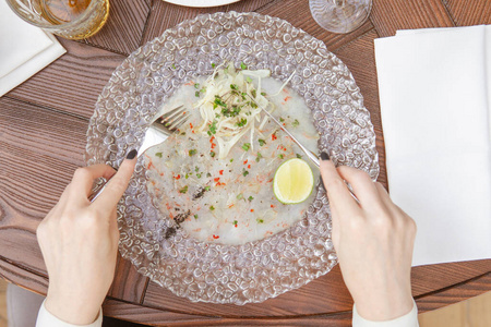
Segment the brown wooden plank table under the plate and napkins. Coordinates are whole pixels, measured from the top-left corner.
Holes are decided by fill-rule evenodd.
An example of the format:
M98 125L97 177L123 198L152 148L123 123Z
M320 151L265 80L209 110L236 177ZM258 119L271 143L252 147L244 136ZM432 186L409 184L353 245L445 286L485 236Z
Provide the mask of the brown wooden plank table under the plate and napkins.
M242 0L190 9L161 0L112 0L107 25L83 41L59 39L67 55L0 98L0 275L46 293L46 267L36 227L56 204L76 167L83 166L85 133L94 105L112 71L133 50L199 13L255 11L287 20L323 40L351 70L378 136L386 185L384 138L373 39L396 29L491 23L491 1L374 0L371 17L347 35L322 29L307 0ZM491 259L412 269L419 312L491 290ZM105 314L151 325L349 326L351 298L338 267L299 290L261 304L215 305L177 298L119 259Z

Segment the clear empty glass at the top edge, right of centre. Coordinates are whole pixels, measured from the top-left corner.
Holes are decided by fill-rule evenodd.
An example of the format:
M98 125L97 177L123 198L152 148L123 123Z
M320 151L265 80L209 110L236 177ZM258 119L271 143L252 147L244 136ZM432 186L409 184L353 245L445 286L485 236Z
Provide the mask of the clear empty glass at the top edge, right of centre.
M310 12L322 28L349 33L369 17L372 0L309 0Z

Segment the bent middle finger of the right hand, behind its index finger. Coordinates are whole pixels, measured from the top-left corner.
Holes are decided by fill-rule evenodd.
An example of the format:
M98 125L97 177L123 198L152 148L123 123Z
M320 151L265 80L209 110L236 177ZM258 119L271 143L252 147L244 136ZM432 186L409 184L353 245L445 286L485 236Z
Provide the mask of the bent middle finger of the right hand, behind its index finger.
M360 201L362 207L370 207L373 204L381 203L375 183L367 172L348 166L338 167L337 171L351 185L352 192Z

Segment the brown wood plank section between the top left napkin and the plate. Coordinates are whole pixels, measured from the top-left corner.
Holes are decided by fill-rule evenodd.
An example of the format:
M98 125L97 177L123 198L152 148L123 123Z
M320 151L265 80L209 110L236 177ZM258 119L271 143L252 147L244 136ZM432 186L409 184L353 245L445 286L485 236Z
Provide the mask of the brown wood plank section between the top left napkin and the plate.
M67 53L7 94L33 105L89 118L124 56L59 38Z

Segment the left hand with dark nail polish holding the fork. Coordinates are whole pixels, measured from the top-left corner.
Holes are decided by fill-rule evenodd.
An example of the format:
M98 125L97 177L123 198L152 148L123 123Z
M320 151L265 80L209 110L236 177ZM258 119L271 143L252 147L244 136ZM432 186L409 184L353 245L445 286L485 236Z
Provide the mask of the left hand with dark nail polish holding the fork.
M98 316L116 269L116 205L128 187L135 155L130 152L116 173L106 165L79 168L37 229L49 275L45 305L61 320L88 325ZM112 178L91 203L87 197L99 177Z

